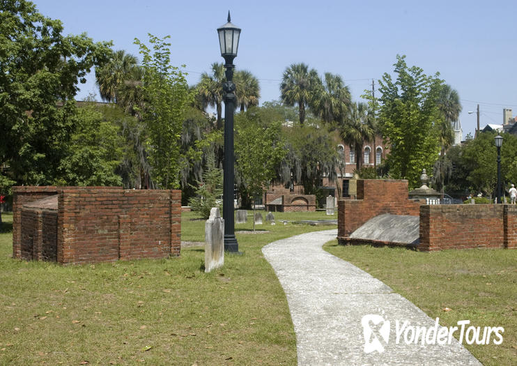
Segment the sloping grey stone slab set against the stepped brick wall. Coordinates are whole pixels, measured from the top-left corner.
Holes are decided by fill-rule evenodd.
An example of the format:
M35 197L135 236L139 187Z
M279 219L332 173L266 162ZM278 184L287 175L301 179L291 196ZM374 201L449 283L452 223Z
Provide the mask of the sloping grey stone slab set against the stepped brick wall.
M420 218L385 213L366 221L350 238L416 245L420 242Z

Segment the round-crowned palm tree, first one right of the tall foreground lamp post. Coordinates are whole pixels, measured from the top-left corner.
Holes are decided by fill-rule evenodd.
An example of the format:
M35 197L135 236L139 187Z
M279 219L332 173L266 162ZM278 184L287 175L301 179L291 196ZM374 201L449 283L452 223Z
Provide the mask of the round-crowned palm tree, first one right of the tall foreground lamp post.
M316 70L309 70L304 63L291 64L282 76L280 98L289 107L298 104L301 125L305 121L305 106L311 101L318 80Z

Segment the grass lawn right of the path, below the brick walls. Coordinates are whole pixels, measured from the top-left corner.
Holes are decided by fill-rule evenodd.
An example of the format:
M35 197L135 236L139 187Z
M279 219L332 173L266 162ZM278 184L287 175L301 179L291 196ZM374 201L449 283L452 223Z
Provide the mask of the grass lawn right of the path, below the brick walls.
M425 253L337 241L325 250L385 282L442 326L468 319L481 329L504 327L499 346L463 344L484 365L517 365L517 250Z

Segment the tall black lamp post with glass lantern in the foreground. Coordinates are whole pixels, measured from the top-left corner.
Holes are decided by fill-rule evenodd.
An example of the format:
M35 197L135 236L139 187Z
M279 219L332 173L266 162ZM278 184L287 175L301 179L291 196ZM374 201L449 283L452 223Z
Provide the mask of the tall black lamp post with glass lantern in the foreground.
M236 85L233 84L233 59L237 56L239 47L240 28L230 22L217 29L221 56L224 57L226 82L224 91L224 180L223 180L223 218L224 218L224 250L239 252L239 244L235 236L235 221L233 218L233 111L236 109Z

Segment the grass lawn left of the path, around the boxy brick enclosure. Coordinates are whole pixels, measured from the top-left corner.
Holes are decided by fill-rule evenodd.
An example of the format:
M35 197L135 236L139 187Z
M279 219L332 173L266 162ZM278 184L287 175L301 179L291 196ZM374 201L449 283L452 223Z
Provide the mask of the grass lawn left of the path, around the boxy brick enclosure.
M180 258L83 266L11 259L12 215L2 217L0 365L295 365L286 296L261 247L332 228L257 225L270 232L236 234L243 255L226 255L223 268L206 274L203 247ZM193 218L182 215L183 241L204 240L205 222Z

